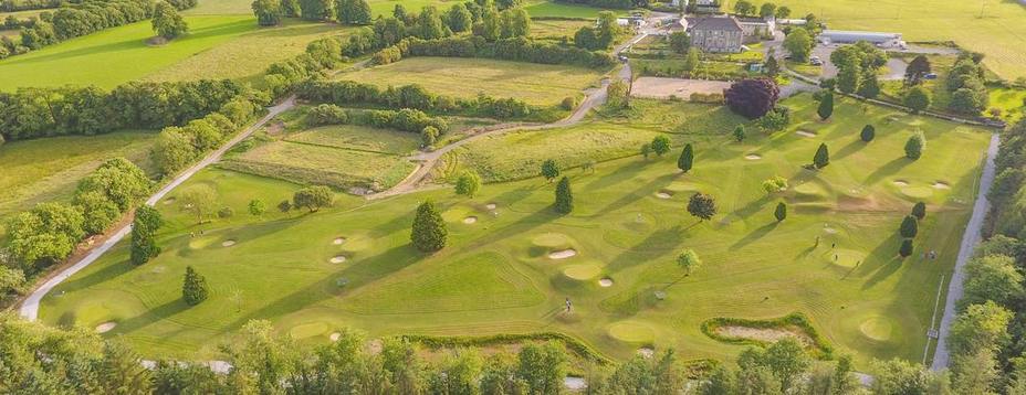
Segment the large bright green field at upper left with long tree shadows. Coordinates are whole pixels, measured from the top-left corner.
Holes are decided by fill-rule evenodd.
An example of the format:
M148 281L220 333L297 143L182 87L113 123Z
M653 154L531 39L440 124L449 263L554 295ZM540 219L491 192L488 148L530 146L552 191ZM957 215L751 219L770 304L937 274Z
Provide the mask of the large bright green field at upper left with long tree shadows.
M197 15L186 22L188 35L159 47L146 43L154 33L144 21L12 56L0 61L0 89L250 77L301 53L310 41L339 32L306 22L260 29L252 15Z

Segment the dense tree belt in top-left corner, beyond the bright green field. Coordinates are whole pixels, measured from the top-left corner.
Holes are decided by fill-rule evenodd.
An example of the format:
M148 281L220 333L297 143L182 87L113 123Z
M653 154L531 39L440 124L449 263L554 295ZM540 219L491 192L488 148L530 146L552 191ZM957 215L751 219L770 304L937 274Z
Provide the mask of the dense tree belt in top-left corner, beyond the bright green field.
M192 8L196 0L168 0L178 10ZM69 39L149 19L154 0L83 0L21 25L21 42L0 39L0 58L20 55Z

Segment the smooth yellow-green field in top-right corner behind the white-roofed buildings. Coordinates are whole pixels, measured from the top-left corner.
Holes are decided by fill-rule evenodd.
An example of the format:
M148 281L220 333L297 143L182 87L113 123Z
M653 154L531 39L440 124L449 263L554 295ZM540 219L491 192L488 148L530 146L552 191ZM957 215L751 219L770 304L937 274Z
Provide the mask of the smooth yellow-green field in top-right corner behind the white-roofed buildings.
M1026 77L1026 8L1015 1L782 0L793 17L815 13L830 29L902 33L909 42L952 41L986 54L983 63L1005 79ZM733 7L733 1L724 7Z

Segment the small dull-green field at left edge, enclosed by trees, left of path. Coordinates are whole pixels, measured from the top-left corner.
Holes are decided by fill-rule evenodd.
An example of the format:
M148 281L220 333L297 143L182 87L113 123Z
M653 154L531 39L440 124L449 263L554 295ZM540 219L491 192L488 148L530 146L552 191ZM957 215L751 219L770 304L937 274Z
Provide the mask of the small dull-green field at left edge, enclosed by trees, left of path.
M98 136L52 137L0 146L0 234L10 215L36 203L71 198L83 175L101 162L125 157L153 170L149 146L155 135L119 131Z

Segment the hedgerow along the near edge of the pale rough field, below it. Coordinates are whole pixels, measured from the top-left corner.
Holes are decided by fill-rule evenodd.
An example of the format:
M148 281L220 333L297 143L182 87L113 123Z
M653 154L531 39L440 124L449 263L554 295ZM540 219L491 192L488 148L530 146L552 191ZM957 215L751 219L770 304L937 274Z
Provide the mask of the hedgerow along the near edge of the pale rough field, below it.
M307 81L296 93L300 98L316 103L349 106L364 104L395 109L461 113L499 119L522 118L533 110L526 103L513 98L499 99L479 95L473 99L457 99L431 94L416 84L383 89L374 84L353 81Z

